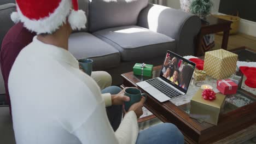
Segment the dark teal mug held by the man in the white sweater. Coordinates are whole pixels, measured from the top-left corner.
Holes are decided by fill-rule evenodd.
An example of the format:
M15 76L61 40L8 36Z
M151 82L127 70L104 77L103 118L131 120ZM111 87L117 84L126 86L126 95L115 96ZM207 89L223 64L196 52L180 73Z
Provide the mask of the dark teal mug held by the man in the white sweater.
M141 91L137 88L127 88L125 89L125 94L127 97L130 98L130 101L125 101L125 110L128 111L134 103L141 101L142 95L146 97L147 95L141 93ZM146 97L147 98L147 97Z

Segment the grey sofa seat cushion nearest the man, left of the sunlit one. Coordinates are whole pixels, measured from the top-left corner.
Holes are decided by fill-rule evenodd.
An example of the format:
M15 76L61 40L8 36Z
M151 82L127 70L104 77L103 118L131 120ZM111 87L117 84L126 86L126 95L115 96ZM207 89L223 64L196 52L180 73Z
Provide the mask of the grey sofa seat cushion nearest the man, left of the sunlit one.
M120 53L111 45L90 33L73 33L68 40L69 52L79 58L92 58L94 70L116 67L120 64Z

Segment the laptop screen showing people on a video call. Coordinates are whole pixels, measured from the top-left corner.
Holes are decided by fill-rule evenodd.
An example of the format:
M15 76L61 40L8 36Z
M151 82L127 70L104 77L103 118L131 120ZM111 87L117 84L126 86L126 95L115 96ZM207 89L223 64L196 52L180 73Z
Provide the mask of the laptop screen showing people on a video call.
M187 93L194 69L195 63L171 51L167 51L160 77L180 91Z

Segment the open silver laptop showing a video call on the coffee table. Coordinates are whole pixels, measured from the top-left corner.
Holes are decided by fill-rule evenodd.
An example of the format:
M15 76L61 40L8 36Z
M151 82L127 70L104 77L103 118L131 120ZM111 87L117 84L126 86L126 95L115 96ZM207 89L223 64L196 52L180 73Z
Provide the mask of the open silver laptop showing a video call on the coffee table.
M136 85L160 102L185 95L195 63L167 51L159 77L138 82Z

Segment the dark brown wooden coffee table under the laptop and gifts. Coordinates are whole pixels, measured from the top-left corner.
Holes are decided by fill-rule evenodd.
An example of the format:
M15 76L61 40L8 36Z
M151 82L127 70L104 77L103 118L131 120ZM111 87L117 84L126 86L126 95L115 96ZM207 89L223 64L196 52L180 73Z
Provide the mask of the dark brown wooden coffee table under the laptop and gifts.
M159 76L161 66L154 67L153 77ZM136 83L150 79L150 77L136 76L133 72L121 75L123 87L137 87ZM196 88L195 86L189 86ZM142 90L143 91L143 90ZM189 90L188 90L189 91ZM144 92L144 91L143 91ZM177 105L171 101L160 103L148 93L144 106L162 122L175 124L184 134L187 143L234 142L251 139L256 136L256 96L239 89L238 93L246 95L252 103L236 107L226 103L220 114L218 125L199 122L189 117L190 103ZM191 95L189 96L191 99Z

